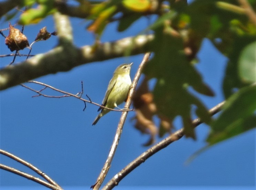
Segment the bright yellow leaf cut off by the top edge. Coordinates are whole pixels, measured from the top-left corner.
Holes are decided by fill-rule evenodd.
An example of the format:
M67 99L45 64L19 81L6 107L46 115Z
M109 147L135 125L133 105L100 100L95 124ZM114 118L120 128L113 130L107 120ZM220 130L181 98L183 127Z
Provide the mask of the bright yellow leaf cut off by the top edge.
M150 9L149 0L123 0L122 3L131 11L145 12Z

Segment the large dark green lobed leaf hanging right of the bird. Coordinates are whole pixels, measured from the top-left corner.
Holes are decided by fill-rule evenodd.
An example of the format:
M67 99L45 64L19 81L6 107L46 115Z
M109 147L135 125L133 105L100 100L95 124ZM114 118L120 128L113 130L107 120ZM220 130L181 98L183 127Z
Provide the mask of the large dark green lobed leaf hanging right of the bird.
M196 113L206 123L209 123L210 116L200 100L189 93L188 87L191 86L194 90L206 95L213 95L213 93L202 82L195 67L189 63L184 54L182 39L163 31L163 27L155 30L155 38L151 44L154 57L147 63L144 73L149 78L157 79L153 94L158 114L170 120L180 115L186 136L195 138L191 123L192 105L197 107Z

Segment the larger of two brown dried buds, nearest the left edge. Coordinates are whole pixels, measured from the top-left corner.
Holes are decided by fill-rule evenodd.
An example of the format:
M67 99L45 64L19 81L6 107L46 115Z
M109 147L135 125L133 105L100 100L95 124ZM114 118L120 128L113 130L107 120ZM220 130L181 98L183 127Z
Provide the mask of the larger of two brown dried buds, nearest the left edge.
M9 35L6 37L5 44L11 51L19 51L29 46L26 36L11 24L9 24Z

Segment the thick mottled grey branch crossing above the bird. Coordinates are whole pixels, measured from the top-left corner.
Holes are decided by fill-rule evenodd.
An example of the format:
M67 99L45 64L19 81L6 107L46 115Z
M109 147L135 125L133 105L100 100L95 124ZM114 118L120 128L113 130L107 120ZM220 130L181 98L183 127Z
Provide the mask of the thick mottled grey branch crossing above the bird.
M130 55L147 52L147 45L152 39L153 35L139 35L97 46L83 46L81 48L76 48L70 44L67 45L68 48L58 46L45 54L38 54L19 64L1 69L0 90L47 74L69 71L85 63L123 57L127 49L130 49Z

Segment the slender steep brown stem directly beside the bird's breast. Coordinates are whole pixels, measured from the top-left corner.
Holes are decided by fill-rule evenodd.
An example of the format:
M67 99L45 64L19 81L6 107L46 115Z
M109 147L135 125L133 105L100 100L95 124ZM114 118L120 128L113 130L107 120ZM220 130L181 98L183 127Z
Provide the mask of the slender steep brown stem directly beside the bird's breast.
M131 105L131 97L135 92L135 88L136 88L136 85L137 85L138 80L140 78L142 69L145 66L145 64L147 63L147 61L149 60L149 57L150 57L150 53L146 53L145 56L143 57L142 62L140 63L140 66L137 70L137 73L135 74L134 80L132 81L131 88L130 88L128 98L127 98L127 102L125 104L125 108L127 108L127 109ZM115 138L114 138L113 143L111 145L107 160L106 160L106 162L105 162L105 164L102 168L102 171L100 172L100 174L97 178L96 183L91 186L91 188L93 188L94 190L95 189L97 190L97 189L100 188L100 186L102 185L102 183L103 183L103 181L104 181L104 179L105 179L105 177L108 173L108 170L110 168L111 162L113 160L113 157L114 157L116 149L117 149L117 145L118 145L118 142L119 142L119 139L120 139L120 136L121 136L121 132L122 132L122 128L124 126L126 116L127 116L127 112L126 111L122 112L120 121L119 121L118 126L117 126L116 135L115 135Z

